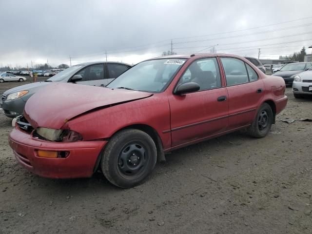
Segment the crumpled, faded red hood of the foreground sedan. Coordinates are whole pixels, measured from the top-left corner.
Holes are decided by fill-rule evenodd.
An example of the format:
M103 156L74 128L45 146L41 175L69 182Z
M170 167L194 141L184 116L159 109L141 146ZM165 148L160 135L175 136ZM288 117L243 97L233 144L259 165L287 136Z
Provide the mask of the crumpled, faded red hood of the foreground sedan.
M150 96L153 94L56 82L29 98L24 116L34 128L60 129L71 118L93 109Z

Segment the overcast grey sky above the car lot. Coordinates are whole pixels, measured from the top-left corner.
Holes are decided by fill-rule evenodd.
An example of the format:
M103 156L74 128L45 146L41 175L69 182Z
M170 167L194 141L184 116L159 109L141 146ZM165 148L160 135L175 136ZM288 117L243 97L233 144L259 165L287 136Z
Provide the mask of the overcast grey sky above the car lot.
M218 44L241 56L261 48L261 59L312 45L311 0L0 0L0 9L0 66L105 60L105 51L137 63L171 50L171 39L176 53Z

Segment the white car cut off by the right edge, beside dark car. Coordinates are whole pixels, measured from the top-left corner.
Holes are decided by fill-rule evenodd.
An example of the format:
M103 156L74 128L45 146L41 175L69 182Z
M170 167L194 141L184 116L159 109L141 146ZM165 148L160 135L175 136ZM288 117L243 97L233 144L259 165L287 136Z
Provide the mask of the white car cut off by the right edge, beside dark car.
M312 67L293 78L292 93L295 98L312 96Z

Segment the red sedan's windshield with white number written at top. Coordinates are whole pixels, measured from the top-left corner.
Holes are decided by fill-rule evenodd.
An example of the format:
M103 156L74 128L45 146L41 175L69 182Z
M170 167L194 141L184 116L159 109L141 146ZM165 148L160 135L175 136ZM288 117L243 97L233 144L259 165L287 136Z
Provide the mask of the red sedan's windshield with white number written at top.
M106 87L162 92L186 59L155 59L138 63Z

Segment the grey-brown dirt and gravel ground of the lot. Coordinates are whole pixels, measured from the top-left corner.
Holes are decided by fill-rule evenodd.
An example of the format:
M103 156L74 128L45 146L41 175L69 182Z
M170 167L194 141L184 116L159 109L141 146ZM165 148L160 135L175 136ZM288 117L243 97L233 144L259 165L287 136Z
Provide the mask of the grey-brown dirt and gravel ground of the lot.
M0 94L20 83L0 85ZM311 234L312 98L294 99L271 133L242 132L167 155L152 176L119 189L103 175L56 180L32 175L8 146L0 115L0 234Z

